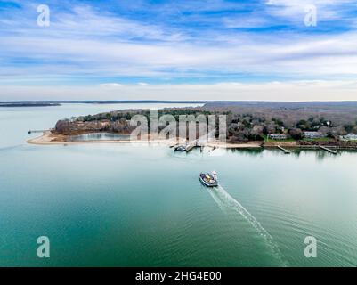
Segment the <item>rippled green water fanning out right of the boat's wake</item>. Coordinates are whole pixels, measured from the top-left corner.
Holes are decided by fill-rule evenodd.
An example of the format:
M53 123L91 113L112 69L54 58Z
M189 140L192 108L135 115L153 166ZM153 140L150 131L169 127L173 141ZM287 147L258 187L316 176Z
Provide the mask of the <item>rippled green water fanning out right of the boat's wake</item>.
M256 216L261 216L264 224L270 229L278 241L285 244L285 248L299 248L301 254L289 255L292 265L301 264L304 258L304 238L312 235L318 240L319 264L327 266L355 266L353 256L355 250L354 240L349 240L336 229L308 220L303 216L282 208L274 203L246 201L247 208ZM301 237L301 240L299 239ZM296 247L301 245L301 247ZM336 249L338 248L338 250Z

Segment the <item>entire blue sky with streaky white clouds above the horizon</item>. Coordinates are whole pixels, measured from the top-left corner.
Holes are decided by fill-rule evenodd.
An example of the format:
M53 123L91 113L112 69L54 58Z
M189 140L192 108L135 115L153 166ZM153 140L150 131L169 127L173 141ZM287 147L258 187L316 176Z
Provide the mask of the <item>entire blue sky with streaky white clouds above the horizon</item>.
M17 100L357 101L357 0L0 0Z

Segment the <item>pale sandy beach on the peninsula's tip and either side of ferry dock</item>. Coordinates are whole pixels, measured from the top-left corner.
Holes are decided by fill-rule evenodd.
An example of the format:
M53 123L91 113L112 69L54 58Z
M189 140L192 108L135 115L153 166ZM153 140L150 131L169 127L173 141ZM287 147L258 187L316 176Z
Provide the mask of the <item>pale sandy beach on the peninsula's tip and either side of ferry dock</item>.
M29 144L37 145L72 145L72 144L87 144L87 143L150 143L150 144L166 144L174 145L180 143L180 141L172 140L150 140L150 141L141 141L141 140L101 140L101 141L85 141L85 142L67 142L66 135L62 134L52 134L50 131L44 132L41 136L29 139L26 141ZM185 142L181 142L185 143ZM256 149L261 148L260 142L247 142L247 143L223 143L223 142L208 142L207 147L211 148L223 148L223 149Z

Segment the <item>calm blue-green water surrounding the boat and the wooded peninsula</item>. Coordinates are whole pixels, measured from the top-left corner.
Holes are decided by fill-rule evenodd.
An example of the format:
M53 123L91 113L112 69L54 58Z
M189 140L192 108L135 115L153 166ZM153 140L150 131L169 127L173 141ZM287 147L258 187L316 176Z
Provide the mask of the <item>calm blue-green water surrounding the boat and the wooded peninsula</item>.
M0 109L0 265L357 265L356 152L24 142L59 118L132 107ZM198 175L213 169L209 190Z

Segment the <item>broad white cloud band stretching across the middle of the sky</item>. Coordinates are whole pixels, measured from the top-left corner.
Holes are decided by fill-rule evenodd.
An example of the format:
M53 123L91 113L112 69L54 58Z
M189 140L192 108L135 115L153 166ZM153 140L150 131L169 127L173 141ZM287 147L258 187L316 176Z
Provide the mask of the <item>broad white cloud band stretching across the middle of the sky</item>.
M357 75L357 33L331 36L250 37L237 44L121 43L36 36L0 38L0 77L199 77L211 70L303 77ZM39 49L38 47L41 47ZM28 57L35 65L5 64Z

